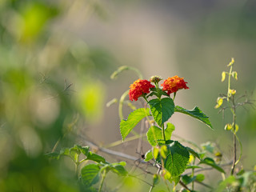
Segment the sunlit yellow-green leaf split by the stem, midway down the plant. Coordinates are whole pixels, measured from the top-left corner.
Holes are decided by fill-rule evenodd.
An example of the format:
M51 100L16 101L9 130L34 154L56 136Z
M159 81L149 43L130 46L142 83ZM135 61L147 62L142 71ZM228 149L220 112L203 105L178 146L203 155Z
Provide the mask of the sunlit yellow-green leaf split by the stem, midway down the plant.
M171 134L174 130L175 130L174 125L168 122L165 129L167 140L170 139ZM151 146L157 146L159 143L162 143L162 144L165 143L162 138L162 129L159 128L158 126L151 126L150 129L147 131L146 136Z

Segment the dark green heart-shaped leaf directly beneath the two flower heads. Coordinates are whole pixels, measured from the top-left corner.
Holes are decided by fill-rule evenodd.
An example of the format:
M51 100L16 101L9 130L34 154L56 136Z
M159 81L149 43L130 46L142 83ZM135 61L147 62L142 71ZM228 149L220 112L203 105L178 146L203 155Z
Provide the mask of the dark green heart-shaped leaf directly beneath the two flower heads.
M150 100L149 105L154 121L158 123L158 126L162 126L174 114L174 101L171 98L154 98Z

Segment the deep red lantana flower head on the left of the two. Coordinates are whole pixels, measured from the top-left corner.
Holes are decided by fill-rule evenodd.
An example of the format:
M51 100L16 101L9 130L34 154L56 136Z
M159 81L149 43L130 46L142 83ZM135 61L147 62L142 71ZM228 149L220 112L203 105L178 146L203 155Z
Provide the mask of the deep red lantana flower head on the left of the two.
M153 85L147 80L136 80L133 84L130 85L129 97L130 101L137 101L142 94L150 93L150 88L154 88Z

